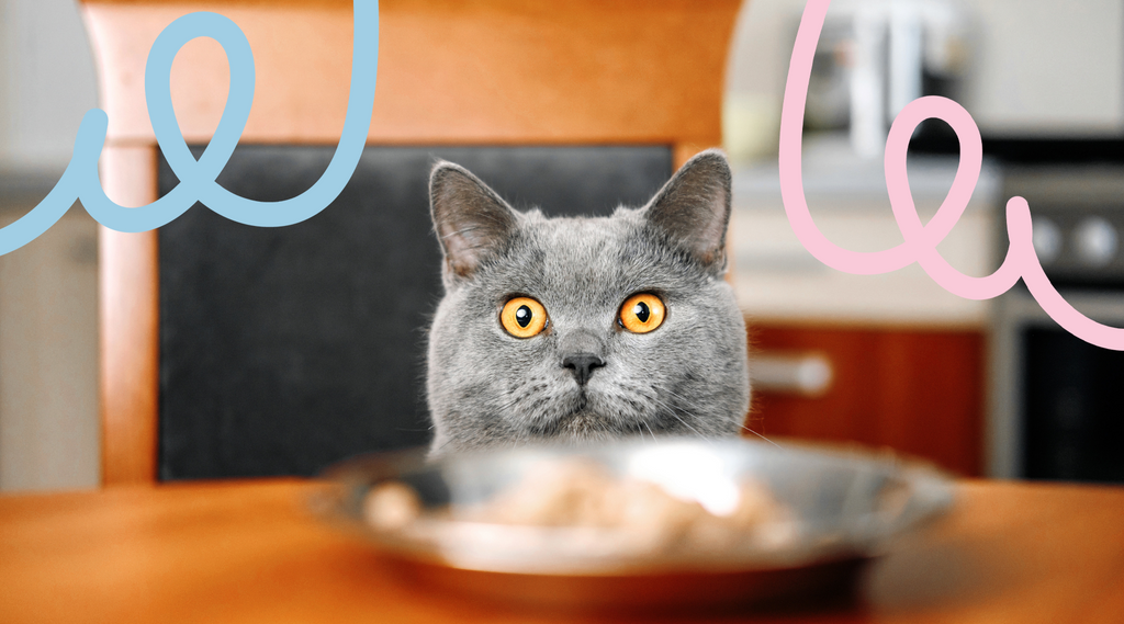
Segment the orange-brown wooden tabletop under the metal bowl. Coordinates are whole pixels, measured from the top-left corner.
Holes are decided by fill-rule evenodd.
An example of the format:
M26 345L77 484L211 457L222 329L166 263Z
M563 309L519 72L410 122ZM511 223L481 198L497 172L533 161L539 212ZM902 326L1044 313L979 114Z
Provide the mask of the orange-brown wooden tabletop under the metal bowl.
M307 511L319 487L0 497L0 622L575 621L402 584ZM955 510L876 562L852 599L696 621L1124 622L1124 488L958 487Z

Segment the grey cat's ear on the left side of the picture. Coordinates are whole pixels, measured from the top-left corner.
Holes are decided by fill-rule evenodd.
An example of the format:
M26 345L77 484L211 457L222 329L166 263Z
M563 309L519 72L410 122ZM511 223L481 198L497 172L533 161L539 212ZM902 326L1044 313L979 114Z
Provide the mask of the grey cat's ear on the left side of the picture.
M453 276L472 275L516 227L507 202L468 169L446 162L429 175L429 210L445 270Z

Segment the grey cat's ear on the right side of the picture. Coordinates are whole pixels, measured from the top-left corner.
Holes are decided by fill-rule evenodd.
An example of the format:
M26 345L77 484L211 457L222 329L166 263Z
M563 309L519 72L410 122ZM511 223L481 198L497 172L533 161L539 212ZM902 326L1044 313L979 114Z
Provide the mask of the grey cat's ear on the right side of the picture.
M726 157L708 149L687 162L645 208L649 223L715 272L726 266L731 175Z

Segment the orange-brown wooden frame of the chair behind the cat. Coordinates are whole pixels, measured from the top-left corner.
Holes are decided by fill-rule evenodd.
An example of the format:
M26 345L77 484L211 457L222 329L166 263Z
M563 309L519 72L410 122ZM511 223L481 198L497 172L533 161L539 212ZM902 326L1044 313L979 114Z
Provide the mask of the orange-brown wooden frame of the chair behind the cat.
M219 10L257 71L244 144L334 146L351 71L343 0L83 0L109 114L102 183L126 205L156 199L160 156L145 59L190 10ZM383 0L370 146L653 146L678 166L720 143L737 0ZM172 72L183 135L206 145L227 68L211 40ZM193 211L201 210L198 207ZM157 479L161 319L157 232L100 235L102 483Z

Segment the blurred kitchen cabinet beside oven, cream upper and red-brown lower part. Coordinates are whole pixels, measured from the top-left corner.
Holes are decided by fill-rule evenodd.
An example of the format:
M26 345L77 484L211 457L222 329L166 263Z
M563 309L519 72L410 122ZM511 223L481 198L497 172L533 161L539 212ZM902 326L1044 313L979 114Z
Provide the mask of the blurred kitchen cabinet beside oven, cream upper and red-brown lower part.
M954 158L909 157L922 222L944 201L955 171ZM880 158L856 158L843 137L809 137L803 183L815 224L833 244L870 253L903 242ZM995 270L1000 199L1001 172L985 163L969 204L936 247L966 275ZM729 246L751 367L780 363L780 374L778 366L754 370L749 428L782 444L886 447L960 475L985 470L990 302L949 293L916 263L878 275L822 264L794 233L771 163L735 167ZM813 363L812 373L818 366L821 382L830 368L830 385L817 391L812 375L810 386L799 387L794 361Z

